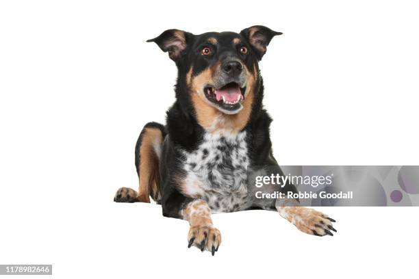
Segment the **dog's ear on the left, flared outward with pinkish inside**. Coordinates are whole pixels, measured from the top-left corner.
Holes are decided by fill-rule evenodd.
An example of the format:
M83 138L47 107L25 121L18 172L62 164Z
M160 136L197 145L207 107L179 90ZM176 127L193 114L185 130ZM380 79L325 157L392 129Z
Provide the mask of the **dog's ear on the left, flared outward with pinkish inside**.
M183 51L188 47L188 42L192 36L192 34L185 31L169 29L160 34L160 36L147 40L147 42L155 42L162 51L168 52L170 59L177 62Z

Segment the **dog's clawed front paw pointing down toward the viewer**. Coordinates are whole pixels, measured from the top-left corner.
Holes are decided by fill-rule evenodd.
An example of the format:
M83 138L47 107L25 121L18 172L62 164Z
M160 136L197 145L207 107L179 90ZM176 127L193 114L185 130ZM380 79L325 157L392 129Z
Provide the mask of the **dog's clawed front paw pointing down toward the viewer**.
M192 245L201 251L208 250L214 256L221 243L221 234L213 226L191 226L188 233L188 248Z

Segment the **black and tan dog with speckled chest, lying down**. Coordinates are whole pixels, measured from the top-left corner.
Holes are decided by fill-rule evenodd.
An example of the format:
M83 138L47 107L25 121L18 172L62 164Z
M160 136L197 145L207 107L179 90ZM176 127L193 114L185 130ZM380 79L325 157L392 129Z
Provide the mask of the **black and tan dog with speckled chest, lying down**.
M263 84L258 62L270 40L281 33L264 26L240 34L190 34L164 31L148 42L168 52L177 65L176 101L166 126L145 125L136 144L139 192L120 188L116 202L162 204L163 215L188 220L188 247L214 255L221 242L211 213L247 209L277 210L299 230L333 235L333 219L298 200L255 198L248 185L252 166L275 166L269 137L271 118L262 107ZM271 191L294 191L286 185Z

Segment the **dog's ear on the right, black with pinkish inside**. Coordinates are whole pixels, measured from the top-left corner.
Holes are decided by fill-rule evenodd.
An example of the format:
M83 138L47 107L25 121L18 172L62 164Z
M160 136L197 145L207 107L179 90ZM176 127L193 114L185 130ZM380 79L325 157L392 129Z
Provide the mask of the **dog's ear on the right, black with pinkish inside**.
M266 47L268 47L270 40L272 40L274 36L281 34L281 32L273 31L262 25L255 25L240 31L240 35L249 42L259 60L262 59L262 56L266 53Z

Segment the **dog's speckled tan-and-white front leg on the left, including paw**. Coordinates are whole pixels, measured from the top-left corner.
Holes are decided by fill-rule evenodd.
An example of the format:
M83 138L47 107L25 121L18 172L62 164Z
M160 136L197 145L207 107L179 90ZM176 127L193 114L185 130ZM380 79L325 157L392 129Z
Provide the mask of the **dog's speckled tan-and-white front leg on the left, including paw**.
M214 228L211 220L211 209L204 200L192 200L181 210L181 216L188 220L188 248L195 245L201 251L208 250L214 256L221 243L221 234Z

